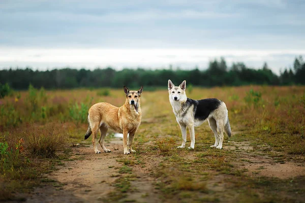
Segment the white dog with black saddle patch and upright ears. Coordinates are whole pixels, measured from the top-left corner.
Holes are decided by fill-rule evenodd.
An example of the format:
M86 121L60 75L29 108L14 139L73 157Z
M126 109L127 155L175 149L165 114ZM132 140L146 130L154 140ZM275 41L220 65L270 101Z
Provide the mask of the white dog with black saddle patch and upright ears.
M194 100L186 95L187 82L183 81L175 87L171 80L168 80L169 101L181 128L182 145L184 148L187 142L187 127L190 130L191 146L195 147L195 126L201 125L206 119L215 134L215 144L210 147L222 149L224 131L231 137L231 127L228 118L226 104L216 98Z

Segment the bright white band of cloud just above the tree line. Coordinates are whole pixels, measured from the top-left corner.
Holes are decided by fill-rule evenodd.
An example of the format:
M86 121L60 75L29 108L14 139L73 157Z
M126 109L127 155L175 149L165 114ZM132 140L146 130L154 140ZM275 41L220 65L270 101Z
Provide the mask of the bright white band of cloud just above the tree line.
M295 56L305 55L300 50L231 50L231 49L27 49L6 48L0 51L0 67L32 66L40 70L54 67L168 67L182 69L207 67L209 60L225 56L228 64L243 61L249 66L261 67L267 61L272 71L290 66Z

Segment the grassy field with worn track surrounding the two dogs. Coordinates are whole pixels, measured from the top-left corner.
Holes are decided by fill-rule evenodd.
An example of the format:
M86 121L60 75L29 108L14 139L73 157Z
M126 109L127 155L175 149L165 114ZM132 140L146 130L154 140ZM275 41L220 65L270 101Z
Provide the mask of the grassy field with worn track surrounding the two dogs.
M187 95L226 103L232 137L225 137L222 150L209 147L215 138L207 123L195 128L194 150L176 148L181 132L165 89L144 87L136 153L130 155L123 155L123 142L112 131L109 154L94 154L90 139L83 141L89 107L123 105L123 88L29 87L0 99L0 200L26 200L37 186L81 199L68 187L72 183L52 174L66 170L69 176L78 163L93 161L109 172L98 180L107 192L95 197L104 202L305 201L305 87L187 87ZM187 140L188 147L189 133ZM93 197L94 190L83 195Z

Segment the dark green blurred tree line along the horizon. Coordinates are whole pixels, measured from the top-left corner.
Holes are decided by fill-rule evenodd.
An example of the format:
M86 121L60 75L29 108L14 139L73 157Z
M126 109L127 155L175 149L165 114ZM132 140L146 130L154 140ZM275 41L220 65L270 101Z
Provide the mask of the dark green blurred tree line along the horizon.
M129 87L166 86L168 79L177 83L187 80L195 86L240 86L240 85L303 85L305 84L305 63L302 56L295 58L292 69L285 69L280 76L274 74L264 63L261 69L247 67L243 62L233 63L228 67L225 59L210 61L207 70L147 70L124 69L116 71L105 69L55 69L51 71L33 71L26 69L0 70L0 83L13 89L27 89L29 84L36 88L69 89L78 87Z

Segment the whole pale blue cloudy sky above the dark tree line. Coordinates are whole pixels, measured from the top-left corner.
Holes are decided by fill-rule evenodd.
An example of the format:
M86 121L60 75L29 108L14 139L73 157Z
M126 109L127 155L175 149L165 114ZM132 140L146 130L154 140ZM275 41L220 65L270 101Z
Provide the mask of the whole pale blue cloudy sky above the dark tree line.
M304 0L0 0L0 69L112 66L206 69L305 56Z

